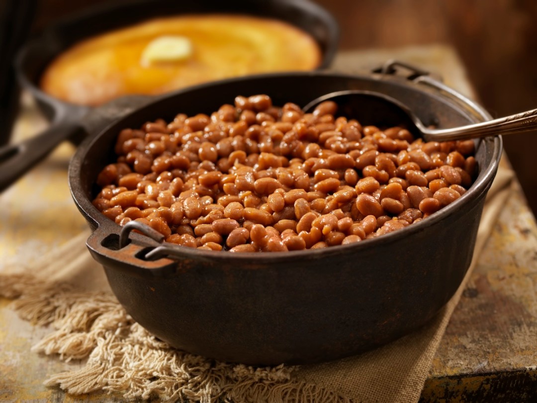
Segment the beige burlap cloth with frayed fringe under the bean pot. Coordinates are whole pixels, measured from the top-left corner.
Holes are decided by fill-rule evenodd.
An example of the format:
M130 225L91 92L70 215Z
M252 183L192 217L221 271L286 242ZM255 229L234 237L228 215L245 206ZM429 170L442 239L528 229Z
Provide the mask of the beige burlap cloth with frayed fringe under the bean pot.
M78 369L45 384L78 395L94 391L163 401L418 401L433 356L478 255L510 195L512 171L500 168L487 198L474 260L463 284L422 329L384 347L335 362L252 368L169 348L137 325L113 296L103 269L76 236L27 267L0 274L0 295L50 334L34 346ZM32 270L39 268L39 271ZM285 313L282 313L285 314ZM42 359L50 359L43 357Z

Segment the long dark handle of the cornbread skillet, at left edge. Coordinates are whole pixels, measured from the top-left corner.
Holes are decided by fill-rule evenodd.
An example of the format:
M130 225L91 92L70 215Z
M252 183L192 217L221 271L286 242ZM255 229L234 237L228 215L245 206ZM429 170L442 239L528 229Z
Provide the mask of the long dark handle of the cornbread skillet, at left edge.
M82 131L72 121L58 121L45 131L18 144L0 148L0 192L12 185L62 141Z

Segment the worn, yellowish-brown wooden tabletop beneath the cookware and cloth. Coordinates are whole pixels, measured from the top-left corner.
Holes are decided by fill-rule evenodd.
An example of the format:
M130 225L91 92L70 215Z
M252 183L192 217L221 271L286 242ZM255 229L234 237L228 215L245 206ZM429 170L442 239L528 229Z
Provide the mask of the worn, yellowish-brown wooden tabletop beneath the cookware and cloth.
M345 52L334 66L352 71L393 58L439 73L473 96L458 57L445 46ZM14 139L46 125L32 100L23 97ZM67 185L73 150L63 144L0 195L0 270L27 265L85 228ZM536 291L537 226L515 185L449 322L421 400L537 401ZM31 352L47 329L20 320L9 303L0 299L0 401L121 401L106 394L72 397L43 386L49 375L80 364Z

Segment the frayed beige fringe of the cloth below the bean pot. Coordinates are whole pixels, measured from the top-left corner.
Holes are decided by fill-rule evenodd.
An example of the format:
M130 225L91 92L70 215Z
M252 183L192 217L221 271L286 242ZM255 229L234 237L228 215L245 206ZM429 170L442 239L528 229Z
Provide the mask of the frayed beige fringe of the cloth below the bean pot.
M125 399L165 402L351 403L293 379L296 367L228 364L171 348L126 313L110 292L80 292L27 274L0 274L0 296L21 318L52 333L32 350L82 368L53 375L46 386L74 394L107 391Z

